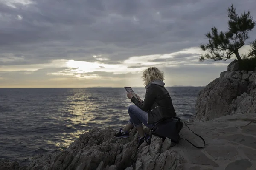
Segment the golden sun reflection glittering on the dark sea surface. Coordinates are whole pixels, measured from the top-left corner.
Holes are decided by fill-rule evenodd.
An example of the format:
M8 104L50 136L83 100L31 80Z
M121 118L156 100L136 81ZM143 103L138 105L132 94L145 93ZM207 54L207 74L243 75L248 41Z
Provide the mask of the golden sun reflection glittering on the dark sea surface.
M111 127L113 119L115 121L127 111L125 106L122 108L123 110L116 109L115 104L108 103L108 95L104 96L100 91L92 94L90 89L74 89L71 94L62 99L65 104L58 109L61 116L55 117L58 121L65 122L66 130L62 130L63 132L60 134L61 142L47 141L48 144L54 144L60 150L68 147L71 142L93 127ZM112 102L117 101L114 99ZM108 108L108 110L104 108ZM128 114L125 114L127 117Z

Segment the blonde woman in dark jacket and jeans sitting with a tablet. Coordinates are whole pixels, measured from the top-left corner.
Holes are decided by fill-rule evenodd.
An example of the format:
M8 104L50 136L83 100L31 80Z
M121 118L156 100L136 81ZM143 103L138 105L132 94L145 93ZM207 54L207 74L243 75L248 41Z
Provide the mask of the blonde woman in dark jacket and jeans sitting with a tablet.
M142 124L151 128L154 124L164 118L172 118L176 116L172 99L169 92L164 87L165 83L163 72L156 67L150 67L143 72L142 75L146 94L144 101L139 96L134 97L131 93L127 97L131 99L134 105L128 107L130 120L128 124L115 134L115 138L128 138L129 130L136 127L139 137L139 145L144 141L148 142L150 136L144 133Z

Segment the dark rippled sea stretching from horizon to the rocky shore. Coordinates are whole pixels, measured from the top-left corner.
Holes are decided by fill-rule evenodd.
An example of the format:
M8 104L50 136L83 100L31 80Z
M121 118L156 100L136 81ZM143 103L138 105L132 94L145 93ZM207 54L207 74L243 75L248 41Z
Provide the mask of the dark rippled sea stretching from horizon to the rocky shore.
M167 88L177 115L189 119L202 87ZM141 99L145 88L133 88ZM118 130L129 119L124 88L0 89L0 158L25 164L69 146L93 127Z

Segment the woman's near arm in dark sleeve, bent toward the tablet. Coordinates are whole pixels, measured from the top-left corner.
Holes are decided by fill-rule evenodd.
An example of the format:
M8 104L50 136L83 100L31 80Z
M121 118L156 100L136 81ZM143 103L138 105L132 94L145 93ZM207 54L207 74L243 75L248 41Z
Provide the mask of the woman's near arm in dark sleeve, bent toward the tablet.
M140 102L135 97L131 98L131 102L133 102L134 105L137 105L141 110L148 111L153 105L155 98L156 98L156 95L154 93L154 85L150 85L146 89L146 95L143 102Z

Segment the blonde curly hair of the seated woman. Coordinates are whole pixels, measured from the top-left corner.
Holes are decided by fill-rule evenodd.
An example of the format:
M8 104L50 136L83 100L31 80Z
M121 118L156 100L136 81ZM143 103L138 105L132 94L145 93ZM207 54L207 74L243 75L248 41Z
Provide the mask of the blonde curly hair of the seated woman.
M144 81L144 85L148 85L148 83L150 83L154 80L162 80L163 81L164 73L156 67L150 67L143 72L142 79Z

